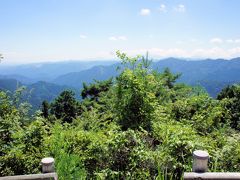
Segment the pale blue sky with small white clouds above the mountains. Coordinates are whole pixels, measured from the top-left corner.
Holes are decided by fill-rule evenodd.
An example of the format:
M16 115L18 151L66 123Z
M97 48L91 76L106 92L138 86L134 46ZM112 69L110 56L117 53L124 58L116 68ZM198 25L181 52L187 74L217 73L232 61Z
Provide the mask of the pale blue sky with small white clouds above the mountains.
M240 56L239 0L0 0L3 64Z

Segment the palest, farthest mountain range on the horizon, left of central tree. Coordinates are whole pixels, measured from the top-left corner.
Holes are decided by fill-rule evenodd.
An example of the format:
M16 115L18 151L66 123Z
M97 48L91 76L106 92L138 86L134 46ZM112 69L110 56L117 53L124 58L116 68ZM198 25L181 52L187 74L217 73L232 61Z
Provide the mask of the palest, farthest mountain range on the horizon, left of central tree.
M97 65L111 65L116 61L64 61L7 66L0 64L0 74L30 84L37 81L51 81L70 72L79 72Z

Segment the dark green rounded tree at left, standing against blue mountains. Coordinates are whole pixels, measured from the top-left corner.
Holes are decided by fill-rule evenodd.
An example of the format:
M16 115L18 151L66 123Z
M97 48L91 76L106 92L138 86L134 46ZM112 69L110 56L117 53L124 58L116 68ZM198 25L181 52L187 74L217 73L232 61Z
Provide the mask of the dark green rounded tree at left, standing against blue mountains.
M74 92L63 91L51 104L51 113L63 122L71 123L77 117L78 102L74 97Z

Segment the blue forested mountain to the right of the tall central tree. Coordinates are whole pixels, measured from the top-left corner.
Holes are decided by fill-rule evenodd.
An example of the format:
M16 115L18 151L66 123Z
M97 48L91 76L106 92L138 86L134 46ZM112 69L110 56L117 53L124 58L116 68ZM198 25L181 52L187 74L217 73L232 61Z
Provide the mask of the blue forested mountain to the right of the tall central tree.
M240 58L198 61L168 58L153 64L153 68L159 71L166 67L174 73L182 74L179 82L201 85L212 97L216 97L225 86L240 83Z

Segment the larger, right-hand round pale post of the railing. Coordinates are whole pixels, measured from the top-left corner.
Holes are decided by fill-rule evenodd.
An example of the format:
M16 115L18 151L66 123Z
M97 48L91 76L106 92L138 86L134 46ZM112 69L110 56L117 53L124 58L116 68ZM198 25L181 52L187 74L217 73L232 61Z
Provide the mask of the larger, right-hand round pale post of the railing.
M209 154L207 151L196 150L193 152L193 172L207 172Z

